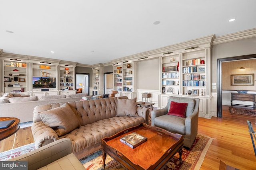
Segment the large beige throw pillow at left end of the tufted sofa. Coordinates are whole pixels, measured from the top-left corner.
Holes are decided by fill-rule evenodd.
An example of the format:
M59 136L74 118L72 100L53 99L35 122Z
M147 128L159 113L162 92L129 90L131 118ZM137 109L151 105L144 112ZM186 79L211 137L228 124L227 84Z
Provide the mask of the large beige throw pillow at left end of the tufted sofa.
M65 135L80 127L75 113L68 104L47 111L38 112L42 121L56 131L58 136Z

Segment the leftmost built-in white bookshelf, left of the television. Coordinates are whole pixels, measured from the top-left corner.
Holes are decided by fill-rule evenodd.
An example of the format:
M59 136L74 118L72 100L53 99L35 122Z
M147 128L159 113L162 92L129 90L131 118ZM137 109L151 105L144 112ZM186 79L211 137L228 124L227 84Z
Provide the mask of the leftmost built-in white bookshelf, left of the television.
M3 92L27 92L27 63L4 61Z

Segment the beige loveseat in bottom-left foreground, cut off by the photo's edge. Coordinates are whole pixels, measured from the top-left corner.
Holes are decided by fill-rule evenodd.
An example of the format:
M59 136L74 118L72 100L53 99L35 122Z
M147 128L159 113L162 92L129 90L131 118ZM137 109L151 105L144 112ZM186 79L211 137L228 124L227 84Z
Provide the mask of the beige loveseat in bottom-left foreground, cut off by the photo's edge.
M72 153L69 139L60 139L7 161L28 161L28 170L85 170Z

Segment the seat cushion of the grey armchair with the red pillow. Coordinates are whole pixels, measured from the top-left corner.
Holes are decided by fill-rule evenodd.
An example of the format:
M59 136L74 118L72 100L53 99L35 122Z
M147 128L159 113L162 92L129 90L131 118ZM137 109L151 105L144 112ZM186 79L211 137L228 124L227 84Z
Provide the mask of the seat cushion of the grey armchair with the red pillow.
M154 119L154 125L166 129L172 133L185 134L185 120L184 117L174 115L162 115Z

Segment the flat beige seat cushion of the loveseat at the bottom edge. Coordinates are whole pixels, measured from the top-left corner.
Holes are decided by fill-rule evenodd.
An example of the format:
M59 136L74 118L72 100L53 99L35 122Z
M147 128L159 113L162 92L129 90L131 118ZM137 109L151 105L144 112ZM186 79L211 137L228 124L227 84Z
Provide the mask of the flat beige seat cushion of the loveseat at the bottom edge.
M85 170L81 162L71 153L38 170Z

